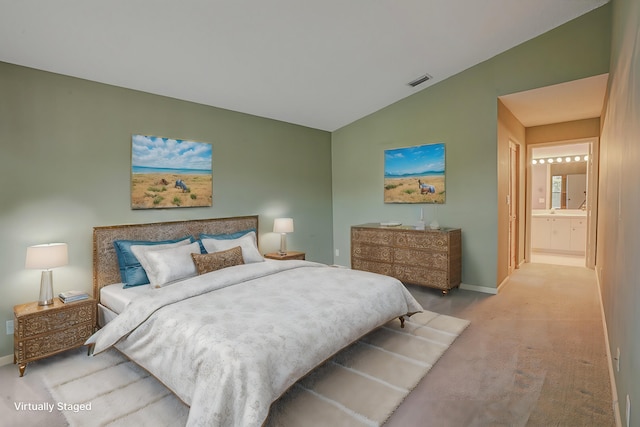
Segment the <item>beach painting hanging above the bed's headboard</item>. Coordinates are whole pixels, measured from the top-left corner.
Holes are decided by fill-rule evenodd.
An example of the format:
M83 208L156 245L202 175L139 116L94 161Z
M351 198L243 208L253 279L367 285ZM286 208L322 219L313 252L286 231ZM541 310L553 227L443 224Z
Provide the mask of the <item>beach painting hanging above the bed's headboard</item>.
M211 206L211 144L133 135L131 208Z

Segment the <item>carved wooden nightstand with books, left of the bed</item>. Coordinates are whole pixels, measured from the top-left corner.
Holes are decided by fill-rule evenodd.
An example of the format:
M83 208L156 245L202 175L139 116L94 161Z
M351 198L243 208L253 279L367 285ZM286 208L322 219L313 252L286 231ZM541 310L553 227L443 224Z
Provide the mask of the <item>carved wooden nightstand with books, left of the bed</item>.
M13 363L23 376L27 363L84 345L95 330L96 300L30 302L13 307L13 316Z

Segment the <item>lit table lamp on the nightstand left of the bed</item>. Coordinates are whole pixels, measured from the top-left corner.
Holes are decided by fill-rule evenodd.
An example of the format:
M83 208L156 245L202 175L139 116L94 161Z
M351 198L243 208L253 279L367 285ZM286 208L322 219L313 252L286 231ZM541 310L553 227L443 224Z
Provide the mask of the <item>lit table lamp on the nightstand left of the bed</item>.
M38 305L53 304L53 272L51 269L67 265L68 262L69 255L66 243L47 243L27 248L24 267L42 270Z

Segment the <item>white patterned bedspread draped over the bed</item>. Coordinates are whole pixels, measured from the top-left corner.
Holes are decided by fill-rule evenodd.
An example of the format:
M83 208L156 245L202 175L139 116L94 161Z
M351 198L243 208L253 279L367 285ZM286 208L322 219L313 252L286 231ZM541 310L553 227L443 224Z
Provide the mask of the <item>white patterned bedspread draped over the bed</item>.
M422 310L401 282L308 261L229 267L132 301L88 341L115 345L190 405L190 426L260 426L315 366Z

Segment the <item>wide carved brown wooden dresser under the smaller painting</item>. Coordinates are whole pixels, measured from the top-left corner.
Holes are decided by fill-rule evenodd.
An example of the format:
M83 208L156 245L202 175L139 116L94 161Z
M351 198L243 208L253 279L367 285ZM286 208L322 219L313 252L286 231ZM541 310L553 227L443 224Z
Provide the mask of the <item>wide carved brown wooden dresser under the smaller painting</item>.
M462 278L462 232L459 228L355 225L351 227L351 268L447 294Z

